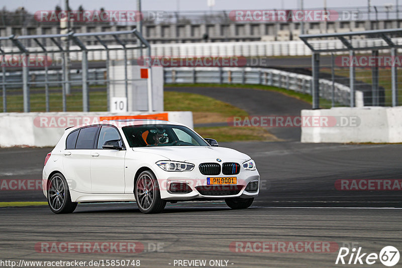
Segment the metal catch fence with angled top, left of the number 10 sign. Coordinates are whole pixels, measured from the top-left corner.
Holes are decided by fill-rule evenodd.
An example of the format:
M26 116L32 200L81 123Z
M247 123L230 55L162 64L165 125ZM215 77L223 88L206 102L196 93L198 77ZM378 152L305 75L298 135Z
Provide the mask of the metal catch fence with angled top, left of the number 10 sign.
M85 46L81 38L92 38L102 47ZM133 37L140 46L130 42ZM110 42L112 39L113 43ZM12 41L12 48L2 48L2 41ZM75 49L66 46L67 42ZM118 43L119 46L110 45ZM29 47L28 44L36 44ZM46 46L47 45L47 46ZM52 45L52 46L49 46ZM135 29L120 32L69 33L39 36L0 37L0 109L3 112L29 111L107 111L110 104L110 84L120 83L128 96L128 52L147 49L149 43ZM105 53L105 62L93 61L90 68L88 52ZM110 54L124 55L123 79L111 79L109 75ZM78 61L69 62L69 53ZM133 54L133 53L132 53ZM105 68L106 65L106 68ZM151 69L148 68L151 79ZM152 83L149 84L149 87ZM151 93L148 91L148 96ZM152 107L149 107L152 109Z

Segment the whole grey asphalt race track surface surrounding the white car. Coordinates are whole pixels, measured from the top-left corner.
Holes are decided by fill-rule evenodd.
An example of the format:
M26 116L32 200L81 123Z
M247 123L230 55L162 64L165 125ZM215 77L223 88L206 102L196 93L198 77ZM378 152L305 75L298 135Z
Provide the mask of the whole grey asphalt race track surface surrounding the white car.
M219 99L224 93L210 94ZM335 264L339 247L353 245L362 247L362 252L377 254L388 245L402 249L400 191L340 191L335 187L339 179L402 179L402 145L301 144L289 139L220 146L242 151L256 161L261 190L251 208L231 210L222 201L180 202L168 204L163 213L145 215L134 202L101 203L79 204L73 214L55 215L47 206L2 207L0 260L134 259L143 267L174 267L175 260L204 259L207 263L227 260L229 267L349 267L356 265ZM40 180L44 158L50 151L0 149L0 180ZM0 190L0 204L11 201L45 201L45 197L39 190ZM67 253L53 249L48 253L41 247L43 242L107 241L138 242L144 250ZM312 252L307 247L307 252L297 253L289 248L285 252L257 252L261 247L231 247L300 241L335 246L330 252L320 252L320 248ZM379 260L370 266L384 267Z

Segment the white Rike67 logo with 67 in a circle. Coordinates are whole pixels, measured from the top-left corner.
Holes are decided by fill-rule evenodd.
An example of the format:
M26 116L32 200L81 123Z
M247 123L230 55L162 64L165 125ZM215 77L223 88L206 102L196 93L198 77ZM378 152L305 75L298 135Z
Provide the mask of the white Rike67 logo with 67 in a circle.
M399 251L394 246L385 246L381 249L380 253L366 253L362 252L359 247L349 250L347 247L341 247L338 252L335 264L374 264L380 261L385 266L391 267L399 261Z

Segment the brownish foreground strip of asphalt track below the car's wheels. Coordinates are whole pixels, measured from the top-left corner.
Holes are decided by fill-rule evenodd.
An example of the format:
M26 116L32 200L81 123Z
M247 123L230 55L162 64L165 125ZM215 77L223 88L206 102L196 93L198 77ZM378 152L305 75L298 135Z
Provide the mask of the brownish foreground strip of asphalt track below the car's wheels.
M233 211L221 204L202 207L194 204L170 207L157 215L144 215L135 205L117 204L81 205L70 215L54 215L46 207L3 208L0 213L1 257L17 263L20 259L139 259L142 267L173 267L175 259L225 259L229 267L336 267L342 266L335 265L338 246L353 243L364 252L377 254L386 245L399 249L402 246L399 209L257 205ZM145 250L102 254L35 250L37 243L46 241L141 242ZM240 241L326 241L337 246L331 252L232 251L229 246ZM159 246L159 252L150 252L155 245Z

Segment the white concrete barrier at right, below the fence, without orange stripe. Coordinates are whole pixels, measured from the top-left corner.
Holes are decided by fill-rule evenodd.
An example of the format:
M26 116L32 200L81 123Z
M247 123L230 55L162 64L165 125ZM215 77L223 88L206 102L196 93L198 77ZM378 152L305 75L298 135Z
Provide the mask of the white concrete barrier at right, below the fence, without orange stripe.
M302 125L302 143L402 143L402 106L302 110L302 119L323 116L336 124Z

